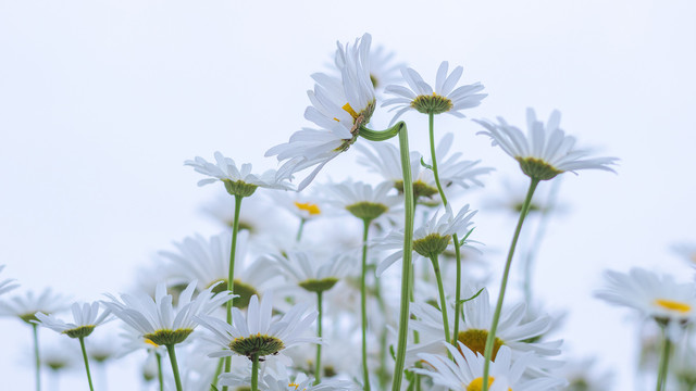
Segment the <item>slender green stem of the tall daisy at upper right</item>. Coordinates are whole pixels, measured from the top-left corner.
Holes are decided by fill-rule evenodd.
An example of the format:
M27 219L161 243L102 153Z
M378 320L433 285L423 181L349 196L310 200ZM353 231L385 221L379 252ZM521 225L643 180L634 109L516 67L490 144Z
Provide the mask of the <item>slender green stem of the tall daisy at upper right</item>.
M488 330L488 338L486 339L486 350L484 351L485 362L483 364L483 388L482 388L483 391L488 391L488 371L490 369L490 357L493 357L493 345L496 339L496 331L498 330L500 312L502 311L502 300L505 299L505 290L508 286L508 277L510 275L510 265L512 264L512 255L514 254L514 248L517 247L518 239L520 238L520 231L522 230L522 224L524 223L524 217L526 217L526 214L530 212L532 195L534 195L534 190L536 190L536 186L538 184L539 184L539 179L532 178L532 181L530 182L530 190L526 192L526 198L524 199L522 211L520 211L520 219L518 220L518 226L514 229L512 243L510 244L510 251L508 251L508 260L505 263L505 272L502 273L502 280L500 281L500 293L498 295L498 302L496 303L496 310L493 314L493 323L490 324L490 330Z

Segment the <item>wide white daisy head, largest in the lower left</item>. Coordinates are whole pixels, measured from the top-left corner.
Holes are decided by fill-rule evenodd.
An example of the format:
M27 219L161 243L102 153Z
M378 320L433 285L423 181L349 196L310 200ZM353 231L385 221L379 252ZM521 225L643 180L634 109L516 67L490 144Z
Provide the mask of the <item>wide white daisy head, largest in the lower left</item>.
M214 294L213 288L206 289L191 300L196 289L196 281L191 281L179 294L176 308L172 305L172 295L166 294L164 283L158 283L154 300L145 292L138 292L121 294L123 302L107 294L111 301L102 303L146 339L158 345L173 345L186 340L194 331L198 326L198 315L210 314L235 297L229 291Z

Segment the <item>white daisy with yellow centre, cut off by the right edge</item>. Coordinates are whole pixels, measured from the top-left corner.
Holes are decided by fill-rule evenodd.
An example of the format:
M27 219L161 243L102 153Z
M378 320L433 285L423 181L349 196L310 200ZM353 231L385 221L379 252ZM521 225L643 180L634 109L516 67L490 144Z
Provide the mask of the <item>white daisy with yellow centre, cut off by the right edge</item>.
M595 295L610 304L637 310L660 323L688 321L696 315L696 288L678 283L671 276L658 276L634 267L629 274L605 272L607 287Z

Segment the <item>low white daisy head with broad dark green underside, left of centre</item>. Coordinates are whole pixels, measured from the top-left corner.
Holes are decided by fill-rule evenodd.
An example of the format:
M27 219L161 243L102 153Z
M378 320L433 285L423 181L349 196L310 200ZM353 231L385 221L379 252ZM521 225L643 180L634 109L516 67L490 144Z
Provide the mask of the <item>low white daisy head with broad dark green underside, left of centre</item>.
M273 291L249 301L247 316L238 308L232 308L232 325L212 316L197 317L200 325L213 333L220 346L209 357L225 357L234 354L252 360L278 354L286 348L302 342L319 343L315 337L302 337L316 318L318 313L304 315L309 305L298 304L281 316L273 316Z

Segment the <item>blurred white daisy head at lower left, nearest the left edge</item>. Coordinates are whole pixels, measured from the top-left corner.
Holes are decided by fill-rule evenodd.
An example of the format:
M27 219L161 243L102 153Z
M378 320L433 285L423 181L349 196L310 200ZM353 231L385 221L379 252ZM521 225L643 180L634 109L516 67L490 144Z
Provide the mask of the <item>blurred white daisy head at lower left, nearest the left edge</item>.
M52 314L67 307L67 298L54 293L47 288L38 297L34 292L26 292L24 295L15 295L9 300L0 302L0 316L16 316L20 319L30 323L37 320L35 314Z

